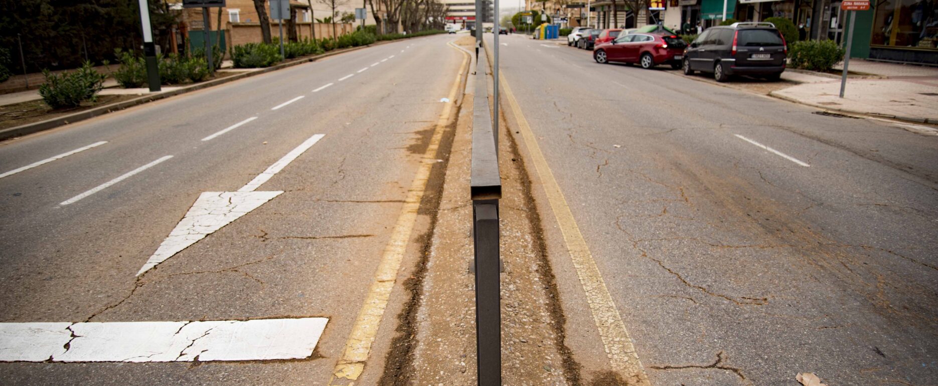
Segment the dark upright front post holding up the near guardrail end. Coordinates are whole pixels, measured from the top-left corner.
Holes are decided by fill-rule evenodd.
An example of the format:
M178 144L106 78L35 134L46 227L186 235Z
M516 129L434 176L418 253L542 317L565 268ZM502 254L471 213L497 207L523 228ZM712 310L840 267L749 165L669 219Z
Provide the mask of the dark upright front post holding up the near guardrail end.
M502 384L498 200L473 200L478 386Z

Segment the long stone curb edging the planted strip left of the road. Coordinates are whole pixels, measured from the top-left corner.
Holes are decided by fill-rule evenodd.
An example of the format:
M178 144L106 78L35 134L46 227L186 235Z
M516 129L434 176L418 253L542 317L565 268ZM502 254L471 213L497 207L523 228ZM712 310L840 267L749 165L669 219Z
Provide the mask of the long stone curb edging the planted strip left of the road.
M443 35L443 34L437 34L437 35ZM424 37L432 37L432 36L434 35L428 35ZM341 49L341 50L333 50L330 52L325 52L325 53L313 55L310 57L300 58L297 60L293 60L291 62L280 63L279 65L274 65L271 67L258 68L256 70L249 71L249 72L242 72L240 74L229 75L224 78L219 78L219 79L212 80L212 81L193 84L193 85L179 88L173 91L161 92L159 94L154 94L151 96L137 97L137 98L125 100L123 102L112 103L110 105L100 106L94 109L88 109L85 111L75 112L73 114L60 116L58 118L52 118L52 119L47 119L45 121L34 122L32 124L9 127L9 128L0 130L0 141L6 141L11 138L22 137L24 135L38 133L39 131L45 131L45 130L53 129L59 126L66 126L68 124L73 124L73 123L80 122L86 119L94 118L98 115L104 115L109 112L120 111L120 110L127 109L129 107L141 105L144 103L149 103L155 100L164 99L167 97L174 97L180 94L191 93L193 91L202 90L204 88L217 86L219 84L224 84L227 82L234 82L234 81L238 81L241 79L250 78L256 75L265 74L267 72L276 71L278 69L282 69L286 67L294 67L294 66L298 66L298 65L302 65L302 64L306 64L310 62L315 62L317 60L320 60L329 56L338 55L340 53L353 52L353 51L357 51L357 50L361 50L361 49L365 49L365 48L369 48L373 46L380 46L382 44L393 43L395 41L407 40L407 39L412 39L412 38L419 38L419 37L405 37L405 38L397 39L397 40L378 41L378 42L369 44L367 46L358 46L358 47L351 47L351 48L346 48L346 49Z

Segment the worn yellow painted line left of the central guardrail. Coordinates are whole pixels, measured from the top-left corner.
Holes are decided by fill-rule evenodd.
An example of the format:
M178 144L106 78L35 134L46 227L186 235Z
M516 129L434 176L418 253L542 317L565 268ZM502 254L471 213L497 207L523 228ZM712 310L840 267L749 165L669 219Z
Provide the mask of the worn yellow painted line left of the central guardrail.
M427 151L423 153L414 182L407 190L407 197L404 199L401 215L398 216L398 221L394 224L394 230L391 230L391 240L387 243L381 261L378 263L378 270L374 274L374 281L371 282L371 288L368 290L365 303L358 311L355 326L352 327L352 333L349 334L345 343L345 351L332 371L332 379L329 380L330 386L353 386L356 380L361 377L362 371L365 370L365 364L371 355L371 343L374 342L374 337L378 334L378 326L385 315L387 299L391 296L391 289L394 289L398 270L401 269L401 260L403 260L407 244L410 242L411 232L414 230L416 212L427 188L430 171L433 165L436 164L436 151L440 147L443 132L446 131L446 124L449 122L449 115L453 110L457 92L459 92L461 75L465 73L468 61L469 55L463 52L460 72L453 80L452 88L449 90L450 101L446 102L443 111L440 113L436 128L433 130L430 145L427 146Z

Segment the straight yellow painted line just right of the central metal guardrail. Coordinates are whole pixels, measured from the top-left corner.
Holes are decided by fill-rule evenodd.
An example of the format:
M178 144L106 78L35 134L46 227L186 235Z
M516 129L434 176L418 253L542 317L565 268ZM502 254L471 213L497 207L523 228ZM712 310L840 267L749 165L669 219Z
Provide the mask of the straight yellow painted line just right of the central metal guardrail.
M583 291L586 292L586 301L589 303L590 311L593 313L593 320L596 322L599 336L602 338L602 344L606 348L606 355L612 364L613 371L628 380L629 385L650 386L648 376L645 374L642 361L632 345L632 339L628 336L626 325L619 316L619 311L613 302L613 296L609 294L606 288L606 282L599 274L596 266L596 260L583 240L580 227L577 226L573 213L567 206L567 199L564 193L553 178L553 172L547 164L547 159L540 152L540 146L537 145L537 139L524 118L521 107L514 94L511 93L511 87L508 85L505 72L501 78L502 93L507 97L508 105L515 115L518 126L522 132L524 144L527 146L531 157L534 158L537 175L543 182L544 191L547 200L551 204L553 215L557 218L560 230L564 235L564 242L567 244L570 258L573 260L573 266L576 267L577 275L580 277L580 284Z

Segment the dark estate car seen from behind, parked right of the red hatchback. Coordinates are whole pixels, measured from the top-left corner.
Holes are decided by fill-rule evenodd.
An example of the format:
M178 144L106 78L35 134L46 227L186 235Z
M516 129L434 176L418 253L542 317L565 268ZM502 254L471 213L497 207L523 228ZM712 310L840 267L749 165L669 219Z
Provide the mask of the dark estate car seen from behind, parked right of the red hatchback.
M717 82L736 74L778 81L785 70L788 45L771 22L734 22L707 28L684 54L685 75L712 72Z

